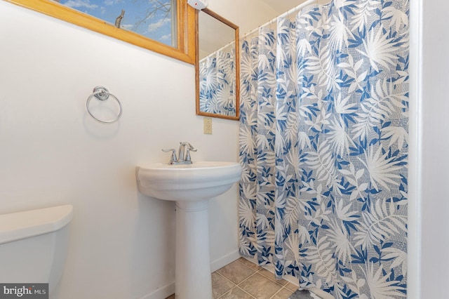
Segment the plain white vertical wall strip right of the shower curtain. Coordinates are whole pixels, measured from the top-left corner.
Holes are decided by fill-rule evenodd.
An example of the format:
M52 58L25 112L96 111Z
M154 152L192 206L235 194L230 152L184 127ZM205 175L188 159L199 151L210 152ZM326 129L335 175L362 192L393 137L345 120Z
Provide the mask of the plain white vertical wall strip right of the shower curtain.
M413 2L413 1L412 1ZM420 94L417 102L420 121L418 159L420 218L417 248L420 248L420 297L447 298L449 285L449 175L448 86L449 35L447 1L417 1L422 29L420 41ZM412 86L415 88L415 86Z

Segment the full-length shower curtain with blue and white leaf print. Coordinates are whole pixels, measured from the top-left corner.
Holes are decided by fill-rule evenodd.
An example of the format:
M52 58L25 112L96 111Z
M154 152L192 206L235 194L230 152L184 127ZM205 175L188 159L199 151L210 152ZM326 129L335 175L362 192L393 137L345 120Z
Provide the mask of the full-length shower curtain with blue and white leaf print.
M408 43L407 0L243 38L241 255L330 297L406 297Z

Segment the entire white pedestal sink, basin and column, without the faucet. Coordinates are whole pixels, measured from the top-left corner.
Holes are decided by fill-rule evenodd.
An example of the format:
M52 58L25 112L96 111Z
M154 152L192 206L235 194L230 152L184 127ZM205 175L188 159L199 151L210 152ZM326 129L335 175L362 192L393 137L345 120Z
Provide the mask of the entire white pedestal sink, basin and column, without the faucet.
M151 164L136 169L142 194L176 201L177 299L212 299L208 201L239 181L233 162Z

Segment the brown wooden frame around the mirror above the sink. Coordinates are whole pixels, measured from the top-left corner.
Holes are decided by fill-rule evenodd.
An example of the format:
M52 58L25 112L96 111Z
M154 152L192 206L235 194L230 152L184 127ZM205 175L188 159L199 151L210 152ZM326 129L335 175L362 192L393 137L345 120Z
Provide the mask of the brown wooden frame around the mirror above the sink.
M217 13L214 13L213 11L210 11L210 9L208 8L204 8L202 10L203 13L207 13L208 15L210 15L212 18L215 18L216 20L224 23L225 25L228 25L229 27L232 27L232 29L234 29L235 31L235 47L236 47L236 91L235 91L235 95L236 95L236 101L235 101L235 105L236 105L236 115L234 116L229 116L229 115L224 115L224 114L215 114L215 113L209 113L209 112L201 112L200 107L199 107L199 18L198 15L199 13L196 13L196 41L195 41L195 88L196 88L196 115L200 115L203 117L217 117L220 119L232 119L235 121L238 121L240 119L240 46L239 46L239 26L235 25L233 22L230 22L229 20L223 18L221 15L218 15Z

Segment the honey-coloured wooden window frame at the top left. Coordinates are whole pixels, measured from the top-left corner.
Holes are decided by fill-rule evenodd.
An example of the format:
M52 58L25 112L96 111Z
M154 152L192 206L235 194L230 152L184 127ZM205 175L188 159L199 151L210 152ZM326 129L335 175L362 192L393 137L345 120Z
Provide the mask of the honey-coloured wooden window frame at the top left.
M145 36L116 28L114 25L100 20L86 13L58 4L51 0L6 0L18 6L65 20L74 25L91 29L95 32L112 36L135 46L147 48L150 51L182 60L191 65L195 64L195 29L196 10L187 5L187 0L177 0L177 47L162 44Z

